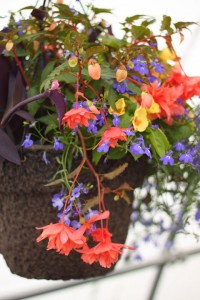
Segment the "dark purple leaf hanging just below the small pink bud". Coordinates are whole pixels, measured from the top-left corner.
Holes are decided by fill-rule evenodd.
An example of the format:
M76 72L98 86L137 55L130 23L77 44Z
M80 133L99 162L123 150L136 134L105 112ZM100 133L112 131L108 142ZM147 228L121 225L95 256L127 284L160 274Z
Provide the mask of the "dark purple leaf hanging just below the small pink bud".
M63 94L61 94L60 90L52 90L50 93L49 98L53 100L56 110L58 113L59 118L59 128L61 127L62 118L66 112L66 104L65 104L65 97Z

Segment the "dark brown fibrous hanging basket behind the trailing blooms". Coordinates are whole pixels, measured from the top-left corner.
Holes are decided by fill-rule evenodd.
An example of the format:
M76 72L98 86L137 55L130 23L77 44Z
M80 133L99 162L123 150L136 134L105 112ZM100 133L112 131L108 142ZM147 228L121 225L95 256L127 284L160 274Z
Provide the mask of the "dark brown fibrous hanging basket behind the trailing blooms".
M46 241L36 243L39 232L35 228L58 221L51 204L58 186L45 186L58 169L57 153L50 151L47 155L49 165L42 161L42 151L25 151L21 166L5 162L0 171L0 252L8 267L12 273L26 278L54 280L85 279L112 271L114 266L106 269L97 263L84 263L75 251L69 256L59 255L46 250ZM126 182L135 188L142 184L146 163L134 161L131 156L106 163L101 161L95 168L98 173L108 173L124 162L128 167L114 180L103 181L105 186L116 189ZM80 180L90 180L95 186L94 178L87 178L85 174ZM95 192L94 188L91 193ZM132 199L132 191L126 194ZM113 194L105 195L106 209L111 213L109 229L113 242L124 243L132 206L124 199L114 201L113 198Z

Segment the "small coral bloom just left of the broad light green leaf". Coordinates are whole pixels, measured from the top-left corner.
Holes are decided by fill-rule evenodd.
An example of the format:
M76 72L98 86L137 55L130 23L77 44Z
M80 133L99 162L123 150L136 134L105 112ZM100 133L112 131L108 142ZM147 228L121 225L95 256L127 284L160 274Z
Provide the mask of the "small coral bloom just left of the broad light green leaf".
M110 127L102 135L99 145L109 142L109 147L115 148L118 141L126 141L127 136L123 132L122 128L119 127Z

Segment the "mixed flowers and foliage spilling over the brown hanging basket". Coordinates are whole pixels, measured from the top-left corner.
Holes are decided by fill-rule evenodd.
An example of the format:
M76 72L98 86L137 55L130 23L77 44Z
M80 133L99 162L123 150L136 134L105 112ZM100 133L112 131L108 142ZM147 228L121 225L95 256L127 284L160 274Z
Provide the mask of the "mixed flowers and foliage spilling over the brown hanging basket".
M169 24L164 16L159 34L154 34L154 19L127 17L119 40L105 22L98 23L101 9L89 9L91 14L85 14L58 3L44 15L34 10L34 19L16 23L12 16L8 32L2 32L2 55L19 69L18 94L23 95L26 87L28 95L5 109L1 126L8 126L18 111L25 121L20 119L24 134L16 143L30 150L44 146L46 164L51 162L45 147L55 150L59 170L49 184L60 185L52 199L58 223L37 228L43 230L37 242L48 238L47 250L64 255L76 251L84 262L110 268L122 248L134 248L112 242L105 193L132 202L126 190L135 187L124 180L120 189L111 189L103 182L115 180L126 165L109 175L98 173L96 165L110 160L114 164L128 155L138 162L143 157L148 165L145 182L148 176L160 176L186 190L186 179L191 185L189 179L200 174L200 111L192 100L200 96L200 77L185 74L171 42L171 36L182 37L191 22ZM166 44L163 50L160 39ZM19 164L13 141L5 132L0 138L12 152L6 155L3 147L0 155ZM95 197L90 196L94 186L82 183L85 173L95 178ZM156 184L161 193L159 179ZM190 199L191 203L199 221L200 204ZM143 220L138 217L141 207L134 212L134 222ZM90 247L90 241L97 244Z

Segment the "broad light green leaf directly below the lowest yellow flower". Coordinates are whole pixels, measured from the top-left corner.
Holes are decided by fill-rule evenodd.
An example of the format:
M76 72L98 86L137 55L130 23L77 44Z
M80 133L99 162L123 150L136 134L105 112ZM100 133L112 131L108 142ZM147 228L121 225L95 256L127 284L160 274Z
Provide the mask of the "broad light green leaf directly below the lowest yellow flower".
M170 149L169 141L161 129L148 128L148 138L156 153L162 157Z

